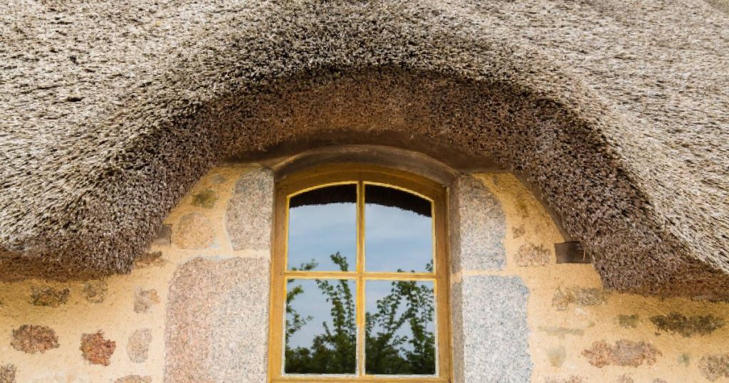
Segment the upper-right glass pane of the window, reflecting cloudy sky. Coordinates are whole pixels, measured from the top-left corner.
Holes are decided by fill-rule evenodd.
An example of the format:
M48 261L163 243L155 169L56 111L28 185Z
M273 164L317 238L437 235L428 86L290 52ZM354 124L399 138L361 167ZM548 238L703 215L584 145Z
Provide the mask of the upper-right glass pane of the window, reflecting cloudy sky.
M391 187L364 186L366 271L433 271L431 202Z

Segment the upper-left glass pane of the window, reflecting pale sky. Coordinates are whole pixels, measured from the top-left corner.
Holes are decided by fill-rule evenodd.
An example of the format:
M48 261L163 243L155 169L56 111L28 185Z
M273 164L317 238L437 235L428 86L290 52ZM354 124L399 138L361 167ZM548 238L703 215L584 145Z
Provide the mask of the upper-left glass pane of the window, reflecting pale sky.
M356 269L357 187L320 187L289 201L289 270Z

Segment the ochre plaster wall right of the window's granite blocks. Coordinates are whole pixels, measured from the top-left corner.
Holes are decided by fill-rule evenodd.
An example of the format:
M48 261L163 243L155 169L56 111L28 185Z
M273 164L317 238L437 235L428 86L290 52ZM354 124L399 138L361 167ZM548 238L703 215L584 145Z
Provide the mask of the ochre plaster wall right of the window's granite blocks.
M518 179L476 177L504 211L507 258L477 274L518 276L529 290L531 382L729 382L729 304L604 290L593 266L555 263L558 228Z

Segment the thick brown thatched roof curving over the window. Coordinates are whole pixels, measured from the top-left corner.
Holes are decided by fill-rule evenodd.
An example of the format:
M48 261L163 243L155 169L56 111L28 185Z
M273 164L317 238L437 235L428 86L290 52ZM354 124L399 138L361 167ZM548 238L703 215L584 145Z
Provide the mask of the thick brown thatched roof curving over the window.
M523 174L607 287L728 298L729 16L712 4L10 1L1 267L128 271L221 158L406 131Z

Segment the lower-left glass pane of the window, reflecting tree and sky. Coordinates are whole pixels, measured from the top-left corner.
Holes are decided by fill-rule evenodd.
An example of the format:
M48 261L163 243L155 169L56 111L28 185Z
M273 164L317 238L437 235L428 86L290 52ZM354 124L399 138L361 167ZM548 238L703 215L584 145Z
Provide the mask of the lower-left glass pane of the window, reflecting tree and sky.
M286 282L286 374L356 373L356 282Z

